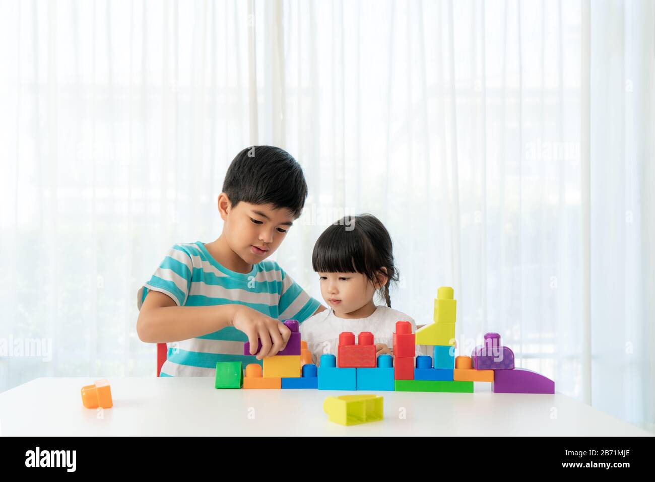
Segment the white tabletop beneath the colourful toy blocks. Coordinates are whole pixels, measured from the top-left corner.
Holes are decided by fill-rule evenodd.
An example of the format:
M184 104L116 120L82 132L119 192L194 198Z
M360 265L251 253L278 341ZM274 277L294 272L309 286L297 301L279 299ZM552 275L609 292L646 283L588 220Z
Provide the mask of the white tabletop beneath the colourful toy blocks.
M115 378L114 406L101 413L84 408L80 396L95 380L41 378L3 392L0 435L652 436L565 395L494 394L482 382L473 394L375 392L384 396L384 420L346 427L327 420L324 399L372 392L216 390L208 377Z

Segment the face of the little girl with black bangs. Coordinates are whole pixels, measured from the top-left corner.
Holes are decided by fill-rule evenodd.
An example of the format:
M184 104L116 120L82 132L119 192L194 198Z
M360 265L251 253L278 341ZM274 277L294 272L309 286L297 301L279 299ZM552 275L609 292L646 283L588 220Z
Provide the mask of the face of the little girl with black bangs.
M321 295L337 315L362 308L373 299L375 287L361 273L319 272Z

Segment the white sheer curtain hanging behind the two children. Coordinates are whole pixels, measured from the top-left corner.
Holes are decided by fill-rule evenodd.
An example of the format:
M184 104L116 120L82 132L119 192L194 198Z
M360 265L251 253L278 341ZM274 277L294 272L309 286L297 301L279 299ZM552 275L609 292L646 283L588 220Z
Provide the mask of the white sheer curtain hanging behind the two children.
M462 348L498 331L557 390L652 424L653 7L586 6L1 4L0 339L52 360L0 357L0 390L153 375L136 290L174 242L218 236L227 165L271 143L310 187L275 257L314 296L318 234L371 212L392 306L426 323L453 286Z

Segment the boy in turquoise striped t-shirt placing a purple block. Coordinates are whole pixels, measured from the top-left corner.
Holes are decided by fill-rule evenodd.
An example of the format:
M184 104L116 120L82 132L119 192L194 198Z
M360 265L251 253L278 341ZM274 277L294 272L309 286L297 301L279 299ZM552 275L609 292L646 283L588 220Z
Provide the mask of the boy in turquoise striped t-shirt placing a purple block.
M264 261L306 197L303 170L288 152L261 145L236 155L218 196L221 235L173 246L138 291L139 338L169 344L161 377L213 377L216 362L273 356L291 334L281 321L303 322L326 309L275 261ZM251 356L243 354L244 341Z

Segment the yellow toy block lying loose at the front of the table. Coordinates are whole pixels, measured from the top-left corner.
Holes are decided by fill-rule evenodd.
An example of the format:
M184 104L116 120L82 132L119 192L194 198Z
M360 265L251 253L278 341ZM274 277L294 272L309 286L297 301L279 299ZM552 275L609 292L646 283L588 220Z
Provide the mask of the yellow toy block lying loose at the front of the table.
M323 411L330 422L356 425L377 422L384 418L384 399L378 395L344 395L327 397Z

